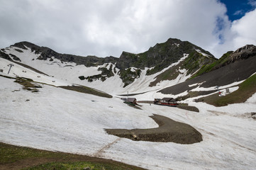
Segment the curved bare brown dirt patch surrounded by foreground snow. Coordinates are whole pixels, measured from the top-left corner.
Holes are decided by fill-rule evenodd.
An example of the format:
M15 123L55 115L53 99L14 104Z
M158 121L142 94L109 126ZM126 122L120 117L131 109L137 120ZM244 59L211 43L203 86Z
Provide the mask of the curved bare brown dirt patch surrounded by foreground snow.
M201 133L191 125L179 123L162 115L152 115L159 128L152 129L106 129L110 135L126 137L130 140L143 140L150 142L175 142L180 144L193 144L202 141Z

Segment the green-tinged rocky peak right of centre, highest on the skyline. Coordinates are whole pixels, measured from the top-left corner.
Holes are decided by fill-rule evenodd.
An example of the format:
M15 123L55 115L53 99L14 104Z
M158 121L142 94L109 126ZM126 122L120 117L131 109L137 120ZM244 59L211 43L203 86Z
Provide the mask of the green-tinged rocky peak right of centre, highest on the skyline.
M170 64L178 62L184 54L189 55L189 59L185 61L185 69L189 69L189 72L196 71L200 68L200 64L208 64L216 60L210 52L203 50L201 47L191 44L187 41L182 41L174 38L169 38L166 42L157 43L154 47L146 52L139 54L132 54L129 52L123 52L116 67L121 70L121 79L124 86L128 86L133 83L135 78L139 75L136 72L140 72L140 69L150 68L147 70L146 75L152 75L162 71L169 67ZM201 60L201 56L207 56L209 60ZM194 61L189 61L189 60ZM197 64L195 64L197 63ZM130 72L129 67L135 67L135 72ZM123 76L125 75L125 76ZM176 77L175 77L176 78Z

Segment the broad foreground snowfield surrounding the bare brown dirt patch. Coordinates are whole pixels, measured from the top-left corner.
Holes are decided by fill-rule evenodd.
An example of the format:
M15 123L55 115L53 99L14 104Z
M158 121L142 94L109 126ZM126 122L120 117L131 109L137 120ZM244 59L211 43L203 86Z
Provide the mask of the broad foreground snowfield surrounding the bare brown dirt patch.
M0 77L0 142L113 159L145 169L256 168L256 94L245 103L220 108L191 101L199 113L146 103L140 110L116 97L45 84L33 93L13 81ZM203 141L191 145L133 141L104 130L157 128L149 117L153 114L191 125Z

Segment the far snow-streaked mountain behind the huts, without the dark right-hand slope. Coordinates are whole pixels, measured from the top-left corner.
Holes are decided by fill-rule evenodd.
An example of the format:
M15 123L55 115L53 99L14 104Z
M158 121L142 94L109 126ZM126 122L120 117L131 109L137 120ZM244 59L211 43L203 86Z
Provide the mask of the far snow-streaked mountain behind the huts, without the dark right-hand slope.
M189 78L202 65L216 61L201 47L172 38L150 47L146 52L123 52L119 58L60 54L30 42L18 42L1 49L1 53L8 60L26 64L58 79L110 93L159 89L165 87L167 81L177 84ZM170 77L170 72L175 74ZM110 83L112 86L108 86Z

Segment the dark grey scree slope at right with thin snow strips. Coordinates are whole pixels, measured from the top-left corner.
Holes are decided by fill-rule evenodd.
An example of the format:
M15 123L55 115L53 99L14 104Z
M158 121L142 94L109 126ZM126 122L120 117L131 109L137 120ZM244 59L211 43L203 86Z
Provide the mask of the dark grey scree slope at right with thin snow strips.
M162 94L177 95L181 99L211 94L216 86L232 87L240 84L256 72L256 46L246 45L235 52L228 52L220 60L202 67L195 77L181 84L158 91ZM205 69L210 68L210 69ZM205 72L202 72L204 70ZM187 95L184 92L187 91ZM182 94L182 95L179 95Z

